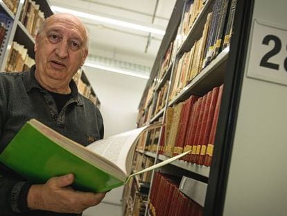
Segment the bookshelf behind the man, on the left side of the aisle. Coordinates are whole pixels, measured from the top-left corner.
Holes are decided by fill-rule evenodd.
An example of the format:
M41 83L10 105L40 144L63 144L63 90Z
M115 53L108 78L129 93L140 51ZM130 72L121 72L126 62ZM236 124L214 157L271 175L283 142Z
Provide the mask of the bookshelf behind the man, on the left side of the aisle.
M12 1L11 1L12 2ZM35 45L35 36L33 36L31 33L29 33L26 26L30 25L30 31L33 30L33 33L37 32L37 28L31 26L29 22L26 22L26 26L24 25L24 10L27 3L33 3L33 6L35 8L39 7L37 11L39 10L39 14L44 17L49 17L50 15L53 15L53 12L51 10L51 6L49 4L49 1L42 1L42 0L26 0L26 1L18 1L17 4L17 10L16 13L12 13L12 11L8 8L6 3L4 1L0 1L0 22L5 24L6 27L6 36L4 37L4 40L1 44L1 50L0 50L0 65L1 65L1 71L6 71L9 61L9 55L11 49L13 49L12 44L14 42L17 42L19 46L24 46L25 56L28 55L29 57L29 63L28 65L33 65L33 60L35 58L35 52L34 52L34 45ZM28 12L26 12L28 13ZM42 21L44 22L44 17ZM41 18L39 18L41 19ZM33 25L36 25L37 23L33 23ZM39 21L40 24L40 21ZM18 46L18 45L17 45ZM21 54L21 53L20 53ZM25 57L23 57L25 61ZM13 70L13 69L12 69ZM21 69L19 69L21 70ZM101 102L98 100L98 97L96 96L96 93L94 92L93 88L91 87L87 76L85 76L85 72L83 72L83 69L80 69L80 79L76 81L78 88L80 89L80 93L83 94L85 97L90 99L93 103L98 106L98 108L101 106Z

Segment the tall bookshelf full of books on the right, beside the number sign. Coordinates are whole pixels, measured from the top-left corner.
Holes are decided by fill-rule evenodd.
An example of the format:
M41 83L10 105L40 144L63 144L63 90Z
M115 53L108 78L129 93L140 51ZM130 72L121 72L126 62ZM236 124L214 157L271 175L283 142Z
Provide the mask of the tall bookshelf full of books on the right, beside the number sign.
M161 194L166 202L171 196L164 194L164 188L157 192L161 185L157 182L159 172L180 178L181 183L175 183L180 190L180 195L177 194L179 199L186 200L182 198L183 193L197 203L192 207L197 212L191 213L191 210L188 215L223 214L232 152L230 135L234 132L240 99L241 69L247 56L245 48L252 5L253 1L176 1L139 104L139 110L146 104L145 109L149 112L141 113L137 124L141 126L161 120L166 123L159 135L155 132L146 135L145 150L141 151L144 156L154 158L155 163L167 160L177 151L190 149L191 156L152 172L145 215L157 215L157 210L161 214L162 209L156 208L166 208L155 198L155 194ZM165 83L168 83L165 106L154 112L155 101ZM191 99L192 95L195 102ZM180 115L176 114L175 118L176 112ZM187 115L187 123L184 123L186 115L182 113L186 112L191 114ZM171 113L173 119L169 117ZM168 128L173 128L173 125L173 130ZM155 140L158 140L156 146ZM182 142L184 146L179 145ZM180 211L184 208L182 205L187 203L173 208L185 214Z

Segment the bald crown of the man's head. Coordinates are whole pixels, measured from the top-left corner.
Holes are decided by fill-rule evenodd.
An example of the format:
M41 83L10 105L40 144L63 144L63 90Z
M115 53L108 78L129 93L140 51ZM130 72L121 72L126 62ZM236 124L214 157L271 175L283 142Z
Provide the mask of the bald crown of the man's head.
M50 17L46 18L42 26L40 26L38 34L42 34L44 28L46 26L49 26L49 24L53 24L54 22L62 21L62 22L69 22L71 26L76 26L78 28L78 31L84 35L84 42L85 47L88 49L89 47L89 33L87 31L87 28L82 24L82 21L74 15L71 15L69 13L57 13L54 15L51 15Z

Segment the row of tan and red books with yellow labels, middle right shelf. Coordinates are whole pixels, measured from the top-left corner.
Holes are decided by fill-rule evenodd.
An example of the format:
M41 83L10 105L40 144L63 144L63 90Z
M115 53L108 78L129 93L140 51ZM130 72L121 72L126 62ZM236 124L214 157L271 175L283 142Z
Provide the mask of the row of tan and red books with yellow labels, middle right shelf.
M191 150L182 160L210 166L222 93L223 85L168 108L159 153L175 156Z

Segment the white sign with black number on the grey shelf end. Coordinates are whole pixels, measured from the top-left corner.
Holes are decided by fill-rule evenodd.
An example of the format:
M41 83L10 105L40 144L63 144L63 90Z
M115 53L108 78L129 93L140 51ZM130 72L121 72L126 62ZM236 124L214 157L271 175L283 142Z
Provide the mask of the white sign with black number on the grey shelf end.
M247 76L287 85L287 29L254 19Z

